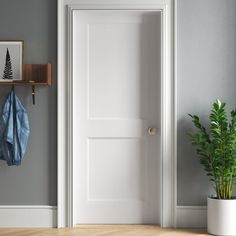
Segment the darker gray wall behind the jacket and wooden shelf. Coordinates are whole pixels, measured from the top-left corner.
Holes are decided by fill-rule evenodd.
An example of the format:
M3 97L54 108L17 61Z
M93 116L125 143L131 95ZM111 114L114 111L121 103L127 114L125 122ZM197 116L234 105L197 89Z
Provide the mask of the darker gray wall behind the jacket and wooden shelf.
M57 1L1 0L0 40L24 40L24 63L52 63L53 86L16 87L28 111L31 134L19 167L0 161L0 205L56 205ZM0 105L10 87L0 86Z

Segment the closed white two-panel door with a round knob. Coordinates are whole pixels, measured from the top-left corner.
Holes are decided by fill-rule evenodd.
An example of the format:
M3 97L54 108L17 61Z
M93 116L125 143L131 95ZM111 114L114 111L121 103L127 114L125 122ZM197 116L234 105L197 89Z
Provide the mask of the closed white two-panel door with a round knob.
M75 221L160 223L161 13L75 10L72 46Z

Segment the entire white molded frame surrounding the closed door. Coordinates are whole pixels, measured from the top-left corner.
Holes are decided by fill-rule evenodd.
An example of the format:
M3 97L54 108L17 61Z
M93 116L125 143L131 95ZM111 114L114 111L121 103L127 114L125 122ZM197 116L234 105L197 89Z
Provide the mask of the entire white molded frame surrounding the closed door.
M58 0L58 227L73 227L73 10L157 10L162 14L161 226L175 226L176 111L173 0Z

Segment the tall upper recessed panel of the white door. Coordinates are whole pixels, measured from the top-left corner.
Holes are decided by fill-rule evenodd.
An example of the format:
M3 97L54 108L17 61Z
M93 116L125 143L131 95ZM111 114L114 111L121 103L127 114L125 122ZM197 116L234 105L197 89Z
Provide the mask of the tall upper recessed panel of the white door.
M141 22L93 24L89 32L90 117L141 117Z

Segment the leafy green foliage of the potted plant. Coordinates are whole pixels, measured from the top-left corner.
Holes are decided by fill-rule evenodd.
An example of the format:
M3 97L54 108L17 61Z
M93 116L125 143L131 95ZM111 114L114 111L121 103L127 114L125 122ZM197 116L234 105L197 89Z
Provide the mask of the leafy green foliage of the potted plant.
M197 115L188 114L197 128L187 136L196 147L200 163L214 184L217 198L232 198L236 189L236 109L228 121L226 104L219 99L213 103L209 116L210 131Z

